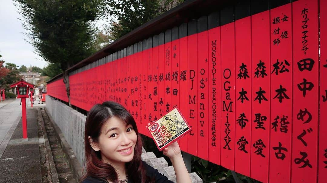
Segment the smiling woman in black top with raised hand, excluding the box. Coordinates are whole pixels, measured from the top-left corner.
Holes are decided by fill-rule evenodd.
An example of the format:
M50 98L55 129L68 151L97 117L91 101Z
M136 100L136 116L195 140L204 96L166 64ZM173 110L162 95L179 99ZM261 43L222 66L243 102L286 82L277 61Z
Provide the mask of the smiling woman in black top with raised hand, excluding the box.
M106 101L90 110L85 124L86 171L82 183L171 183L141 161L142 138L135 120L119 103ZM191 182L177 142L163 150L172 161L177 182Z

